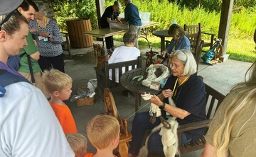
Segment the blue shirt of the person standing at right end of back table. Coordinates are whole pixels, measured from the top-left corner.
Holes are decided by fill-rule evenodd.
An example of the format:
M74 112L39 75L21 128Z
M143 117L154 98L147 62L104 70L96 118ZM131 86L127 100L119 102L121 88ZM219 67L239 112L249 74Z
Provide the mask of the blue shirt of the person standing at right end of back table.
M142 25L142 20L139 18L139 10L137 6L130 3L124 8L124 20L129 23L129 25Z

